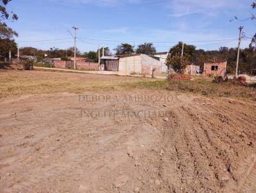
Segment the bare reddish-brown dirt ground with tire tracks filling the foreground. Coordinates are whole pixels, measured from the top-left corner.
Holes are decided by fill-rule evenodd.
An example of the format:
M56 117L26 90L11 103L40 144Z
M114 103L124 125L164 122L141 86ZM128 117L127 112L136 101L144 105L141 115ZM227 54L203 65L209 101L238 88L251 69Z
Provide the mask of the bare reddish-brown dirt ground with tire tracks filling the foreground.
M255 112L148 89L2 98L0 192L256 192Z

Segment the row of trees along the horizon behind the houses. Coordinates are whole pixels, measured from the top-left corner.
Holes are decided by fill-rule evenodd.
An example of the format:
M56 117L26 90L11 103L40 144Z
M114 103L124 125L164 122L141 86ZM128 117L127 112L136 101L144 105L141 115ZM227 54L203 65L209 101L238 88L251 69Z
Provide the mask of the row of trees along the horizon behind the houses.
M12 42L15 45L15 42ZM132 45L128 43L122 43L114 49L116 51L116 56L127 55L127 54L148 54L153 56L156 53L156 48L152 43L143 43L134 49ZM103 48L100 48L100 57L102 56ZM0 54L5 52L4 49L0 47ZM218 50L204 50L196 49L195 45L189 45L184 43L184 55L181 58L182 52L182 42L177 43L168 50L169 56L167 58L167 63L172 65L179 65L179 61L182 59L182 68L186 65L193 64L199 65L203 68L206 61L227 61L227 71L233 72L236 68L237 59L237 48L220 47ZM16 49L13 49L13 53L17 53ZM8 54L8 52L6 52ZM52 47L49 50L36 49L34 47L23 47L20 48L20 55L36 56L38 61L42 61L47 54L47 58L61 58L65 59L65 56L74 56L74 47L70 47L67 50L57 49ZM104 47L104 56L113 56L109 47ZM98 62L99 52L91 50L89 52L80 52L78 50L77 57L84 57L90 59L92 62ZM255 47L248 47L246 49L241 49L241 54L239 58L239 70L241 72L252 72L256 69L256 50ZM182 70L182 69L180 69Z

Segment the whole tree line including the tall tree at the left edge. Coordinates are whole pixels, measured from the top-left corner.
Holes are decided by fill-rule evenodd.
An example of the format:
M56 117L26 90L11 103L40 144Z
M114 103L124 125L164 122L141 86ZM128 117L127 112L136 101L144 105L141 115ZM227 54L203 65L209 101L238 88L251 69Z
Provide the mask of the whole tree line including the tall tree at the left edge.
M8 13L6 5L11 0L0 0L0 56L8 58L9 50L11 50L12 57L17 54L17 43L15 43L14 37L18 36L18 33L12 28L8 27L6 20L18 20L18 16L11 12ZM252 3L252 8L256 8L256 1ZM250 19L255 20L256 17L252 14ZM236 20L237 17L236 17ZM256 69L256 34L252 37L252 42L246 49L241 50L239 60L239 70L241 72L252 72ZM116 55L127 54L148 54L154 55L156 53L156 47L152 43L142 43L138 47L134 47L129 43L121 43L115 49ZM102 56L103 48L100 48L100 56ZM203 49L196 49L195 45L184 44L184 54L181 58L182 42L170 48L166 63L177 68L177 71L182 71L187 64L194 64L204 66L205 61L227 61L227 71L233 72L236 65L237 48L220 47L219 50L205 51ZM28 56L36 56L38 61L42 61L47 55L47 58L61 58L67 60L68 57L74 55L74 48L58 49L55 47L49 50L36 49L34 47L20 48L20 54ZM46 54L46 55L45 55ZM113 55L109 47L104 48L104 56ZM98 61L99 50L81 53L77 50L77 56L83 56L90 59L93 62Z

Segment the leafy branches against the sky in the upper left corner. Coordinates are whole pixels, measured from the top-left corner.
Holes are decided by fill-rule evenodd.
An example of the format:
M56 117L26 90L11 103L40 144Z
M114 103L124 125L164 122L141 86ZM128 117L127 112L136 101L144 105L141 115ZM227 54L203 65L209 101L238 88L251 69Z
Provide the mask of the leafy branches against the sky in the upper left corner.
M13 31L12 28L8 27L4 20L12 19L18 20L18 16L15 13L8 13L6 10L6 5L11 0L1 0L0 1L0 38L1 39L12 39L13 36L18 36L16 31Z

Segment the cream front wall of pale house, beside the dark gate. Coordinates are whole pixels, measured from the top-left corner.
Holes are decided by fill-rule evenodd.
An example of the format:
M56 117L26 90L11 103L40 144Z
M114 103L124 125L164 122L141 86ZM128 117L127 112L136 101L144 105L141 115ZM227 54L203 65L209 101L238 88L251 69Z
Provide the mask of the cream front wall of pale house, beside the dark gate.
M119 59L118 74L131 75L132 73L141 73L141 55Z

